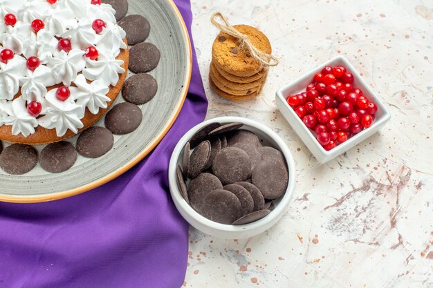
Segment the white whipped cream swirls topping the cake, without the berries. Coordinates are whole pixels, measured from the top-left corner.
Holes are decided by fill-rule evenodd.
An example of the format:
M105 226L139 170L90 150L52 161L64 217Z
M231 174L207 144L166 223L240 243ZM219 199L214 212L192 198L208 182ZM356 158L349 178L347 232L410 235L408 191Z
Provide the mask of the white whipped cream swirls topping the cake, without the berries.
M15 25L5 22L7 14L16 17ZM10 125L12 134L27 137L40 125L61 137L68 129L77 133L83 127L86 108L93 114L107 108L110 86L125 73L124 62L116 57L127 48L114 14L110 5L91 0L0 0L0 52L7 48L15 54L7 61L0 57L0 126ZM92 27L96 19L105 23L99 33ZM44 23L37 32L34 20ZM70 41L68 52L59 50L59 39ZM90 46L98 50L97 59L86 57ZM30 57L39 60L34 70L26 64ZM51 88L55 84L67 86L71 96L57 99L57 88ZM28 113L32 101L42 104L39 115Z

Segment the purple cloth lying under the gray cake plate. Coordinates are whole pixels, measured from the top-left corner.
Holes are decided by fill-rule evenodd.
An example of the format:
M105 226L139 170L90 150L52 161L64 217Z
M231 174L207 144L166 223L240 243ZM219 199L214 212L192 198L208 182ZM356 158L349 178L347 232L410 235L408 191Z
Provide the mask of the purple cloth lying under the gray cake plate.
M175 2L190 29L190 1ZM203 121L208 106L193 53L182 111L145 160L116 180L72 198L0 203L1 288L181 287L187 223L170 198L167 170L174 146Z

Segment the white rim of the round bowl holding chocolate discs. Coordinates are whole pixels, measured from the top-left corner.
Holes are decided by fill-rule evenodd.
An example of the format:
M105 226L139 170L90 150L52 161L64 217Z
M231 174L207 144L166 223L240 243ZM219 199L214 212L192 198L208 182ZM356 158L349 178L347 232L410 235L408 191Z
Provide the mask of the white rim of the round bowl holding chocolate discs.
M203 126L213 123L213 122L219 122L221 124L229 123L229 122L241 122L243 124L246 124L248 126L252 126L263 132L264 134L268 135L270 138L277 143L279 146L279 150L283 153L287 166L288 166L288 173L289 173L289 179L288 179L288 185L286 189L286 193L280 200L279 204L275 206L275 209L273 211L270 211L268 215L266 215L264 218L261 218L260 220L257 220L255 222L251 222L248 224L243 225L231 225L231 224L221 224L218 222L214 222L212 220L209 220L208 218L205 218L201 214L199 214L197 211L195 211L190 204L188 204L185 199L183 199L176 182L176 166L178 164L178 158L180 157L181 153L183 152L183 148L185 147L185 144L190 140L192 135L196 133L196 131L199 131ZM169 189L170 193L172 195L172 198L174 200L174 203L177 205L181 205L181 208L184 209L188 214L190 214L194 219L201 222L201 224L212 227L214 230L218 231L228 231L228 232L245 232L245 231L254 231L256 229L259 229L260 227L266 226L269 222L272 222L276 217L279 215L282 215L284 212L284 209L288 206L288 204L291 202L293 191L295 190L295 179L296 179L296 171L295 171L295 161L293 160L293 156L291 152L288 150L288 147L286 143L270 128L264 126L263 124L260 124L259 122L246 119L243 117L230 117L230 116L224 116L224 117L216 117L212 119L208 119L205 122L202 122L201 124L198 124L190 129L181 140L179 140L178 144L174 148L174 151L172 153L172 157L169 162ZM176 200L175 200L176 198ZM178 209L178 211L183 214L182 209ZM183 216L183 215L182 215ZM185 218L185 217L184 217ZM193 225L194 226L194 225Z

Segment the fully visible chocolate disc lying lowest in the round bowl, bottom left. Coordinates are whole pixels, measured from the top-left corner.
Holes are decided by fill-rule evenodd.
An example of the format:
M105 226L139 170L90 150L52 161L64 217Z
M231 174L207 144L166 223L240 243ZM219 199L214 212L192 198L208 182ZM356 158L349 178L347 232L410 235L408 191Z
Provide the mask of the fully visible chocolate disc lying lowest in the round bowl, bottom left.
M203 216L214 222L232 224L242 211L241 202L230 191L214 190L205 195Z

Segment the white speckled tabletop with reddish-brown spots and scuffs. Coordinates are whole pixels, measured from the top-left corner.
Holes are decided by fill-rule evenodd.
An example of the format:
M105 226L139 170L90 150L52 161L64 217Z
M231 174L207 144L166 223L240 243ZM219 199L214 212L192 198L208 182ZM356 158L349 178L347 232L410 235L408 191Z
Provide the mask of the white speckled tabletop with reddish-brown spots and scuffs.
M184 286L433 287L433 1L193 0L192 10L208 118L264 122L291 149L298 177L266 233L221 240L190 229ZM256 100L228 102L209 88L216 11L263 30L281 60ZM392 119L320 165L277 111L275 90L339 54Z

